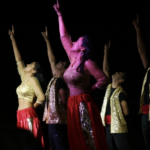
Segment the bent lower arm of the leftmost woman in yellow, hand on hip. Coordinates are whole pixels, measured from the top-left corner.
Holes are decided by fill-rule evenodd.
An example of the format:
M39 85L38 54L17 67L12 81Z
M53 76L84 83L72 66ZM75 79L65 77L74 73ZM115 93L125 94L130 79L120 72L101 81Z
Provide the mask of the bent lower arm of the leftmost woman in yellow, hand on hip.
M37 108L40 104L43 103L43 101L45 100L45 96L39 81L35 77L30 77L29 80L37 97L36 102L34 103L34 108Z

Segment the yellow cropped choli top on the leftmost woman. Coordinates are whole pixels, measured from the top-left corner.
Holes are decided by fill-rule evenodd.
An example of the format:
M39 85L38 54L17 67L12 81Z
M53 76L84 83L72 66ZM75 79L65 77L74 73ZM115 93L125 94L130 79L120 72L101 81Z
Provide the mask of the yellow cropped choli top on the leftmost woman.
M19 75L20 75L21 81L22 81L22 83L16 89L18 99L24 99L29 102L33 102L34 98L37 96L36 96L34 89L31 86L31 83L28 82L28 84L25 84L30 77L25 79L24 62L23 61L18 62L17 65L18 65L18 72L19 72ZM36 79L36 81L37 81L38 85L40 86L39 81L37 79Z

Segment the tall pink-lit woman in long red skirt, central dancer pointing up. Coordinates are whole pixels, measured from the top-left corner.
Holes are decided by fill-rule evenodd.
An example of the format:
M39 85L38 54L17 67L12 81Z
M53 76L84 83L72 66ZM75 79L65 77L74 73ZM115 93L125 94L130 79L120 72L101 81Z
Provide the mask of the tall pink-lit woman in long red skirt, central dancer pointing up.
M87 36L72 42L64 25L59 3L54 5L59 18L61 42L67 52L71 65L64 73L70 90L67 105L68 139L71 150L106 150L106 138L99 111L90 90L102 89L107 77L91 60L91 44ZM90 87L91 76L97 83Z

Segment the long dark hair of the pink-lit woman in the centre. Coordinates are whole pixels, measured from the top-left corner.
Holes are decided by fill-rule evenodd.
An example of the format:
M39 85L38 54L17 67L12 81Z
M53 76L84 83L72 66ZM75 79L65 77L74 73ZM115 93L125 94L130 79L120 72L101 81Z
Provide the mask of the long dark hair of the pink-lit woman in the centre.
M85 48L85 50L84 50L84 54L82 57L82 61L80 65L77 67L77 71L80 73L84 73L84 62L88 59L91 59L91 60L94 59L94 55L92 53L91 39L89 36L87 35L83 36L82 46Z

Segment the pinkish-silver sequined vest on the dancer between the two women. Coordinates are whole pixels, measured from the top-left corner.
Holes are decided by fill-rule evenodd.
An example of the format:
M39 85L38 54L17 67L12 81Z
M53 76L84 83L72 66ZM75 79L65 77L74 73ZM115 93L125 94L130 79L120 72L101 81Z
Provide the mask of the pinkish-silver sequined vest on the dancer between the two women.
M47 124L66 124L67 111L61 103L59 91L56 87L58 77L53 77L48 85L46 96L46 103L43 115L43 121Z

